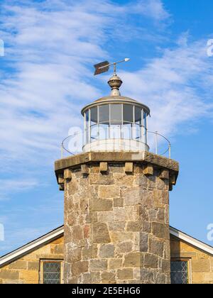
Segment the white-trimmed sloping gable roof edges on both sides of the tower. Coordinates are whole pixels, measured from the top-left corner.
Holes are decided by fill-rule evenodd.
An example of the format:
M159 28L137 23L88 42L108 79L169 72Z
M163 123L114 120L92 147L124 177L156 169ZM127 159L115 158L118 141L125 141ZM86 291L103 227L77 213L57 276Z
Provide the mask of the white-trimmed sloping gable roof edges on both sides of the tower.
M37 238L34 241L31 241L30 243L27 243L26 245L21 246L21 248L13 250L11 253L8 253L6 255L3 255L0 258L0 267L6 265L7 263L11 263L11 261L13 260L21 258L23 255L27 255L28 253L31 253L31 251L40 248L40 246L42 245L45 245L47 243L54 241L57 238L62 237L63 234L64 234L64 226L60 226L58 228L55 228L55 230L50 231L49 233L46 233L40 238ZM170 226L170 235L173 235L176 238L179 238L180 240L185 241L186 243L194 246L197 249L203 250L204 252L213 255L212 246L207 245L206 243L203 243L202 241L199 241L187 235L186 233L178 231L176 228L173 228L171 226Z

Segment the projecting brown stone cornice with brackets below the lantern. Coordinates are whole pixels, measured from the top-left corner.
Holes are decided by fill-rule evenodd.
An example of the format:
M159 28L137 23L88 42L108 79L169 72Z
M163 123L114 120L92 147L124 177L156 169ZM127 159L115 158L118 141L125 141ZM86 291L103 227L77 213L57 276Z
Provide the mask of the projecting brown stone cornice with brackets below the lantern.
M152 168L158 168L161 170L160 178L170 180L170 190L173 188L173 185L176 184L176 180L179 172L179 163L175 160L165 158L161 155L156 155L154 153L149 153L147 151L138 153L138 152L90 152L90 153L81 153L78 155L72 155L68 158L62 158L55 161L55 175L60 184L60 189L63 190L64 179L72 179L72 173L69 173L69 170L81 167L81 170L84 169L87 165L100 162L109 162L109 163L127 163L132 162L136 164L144 165L144 175L152 175ZM85 167L83 166L85 165ZM129 165L131 168L131 165ZM66 170L66 172L65 172ZM129 171L129 170L128 170ZM127 171L127 172L128 172ZM166 172L167 171L167 172ZM100 169L102 172L102 169ZM89 174L89 170L87 170ZM66 177L65 177L66 176Z

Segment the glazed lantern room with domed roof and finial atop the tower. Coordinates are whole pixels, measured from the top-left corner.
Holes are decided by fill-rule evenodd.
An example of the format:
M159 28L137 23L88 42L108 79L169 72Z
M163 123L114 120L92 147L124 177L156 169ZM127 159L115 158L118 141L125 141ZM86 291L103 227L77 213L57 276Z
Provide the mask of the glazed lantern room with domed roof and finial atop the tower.
M109 79L110 96L102 97L82 109L84 152L145 151L148 106L121 96L122 81L116 74Z

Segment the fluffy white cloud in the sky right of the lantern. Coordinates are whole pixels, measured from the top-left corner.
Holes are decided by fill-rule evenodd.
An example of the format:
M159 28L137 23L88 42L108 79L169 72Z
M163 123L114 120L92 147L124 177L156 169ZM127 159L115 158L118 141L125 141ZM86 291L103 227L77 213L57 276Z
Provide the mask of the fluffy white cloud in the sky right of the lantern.
M193 121L212 115L213 67L205 40L186 43L185 39L177 48L164 50L143 70L121 74L122 93L150 106L151 131L174 136L185 133Z

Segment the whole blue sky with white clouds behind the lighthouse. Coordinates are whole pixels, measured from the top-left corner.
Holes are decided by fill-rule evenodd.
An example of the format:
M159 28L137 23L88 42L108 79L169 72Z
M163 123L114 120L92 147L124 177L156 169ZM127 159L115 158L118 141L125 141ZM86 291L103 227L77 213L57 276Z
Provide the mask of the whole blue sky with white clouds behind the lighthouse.
M150 130L180 162L170 224L201 241L213 223L211 0L1 1L0 255L63 223L54 160L80 109L109 94L102 60L121 60L121 93L151 108Z

